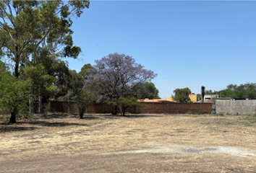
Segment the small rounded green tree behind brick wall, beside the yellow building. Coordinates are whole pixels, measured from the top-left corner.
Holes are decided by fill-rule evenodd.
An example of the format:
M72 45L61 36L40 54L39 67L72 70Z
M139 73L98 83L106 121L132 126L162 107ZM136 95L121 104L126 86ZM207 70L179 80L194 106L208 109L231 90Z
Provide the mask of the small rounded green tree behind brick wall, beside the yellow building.
M174 96L172 96L172 98L176 102L190 102L189 94L191 94L189 88L175 89Z

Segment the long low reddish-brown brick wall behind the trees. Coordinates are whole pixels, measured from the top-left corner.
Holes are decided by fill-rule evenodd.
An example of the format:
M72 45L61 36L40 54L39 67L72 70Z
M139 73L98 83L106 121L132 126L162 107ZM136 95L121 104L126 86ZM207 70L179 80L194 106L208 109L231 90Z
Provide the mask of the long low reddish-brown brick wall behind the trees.
M51 110L54 112L78 113L74 102L51 102ZM168 102L145 102L142 107L129 107L129 113L155 113L155 114L185 114L192 112L196 114L210 114L211 103L168 103ZM106 104L95 104L88 107L86 113L111 113L112 108Z

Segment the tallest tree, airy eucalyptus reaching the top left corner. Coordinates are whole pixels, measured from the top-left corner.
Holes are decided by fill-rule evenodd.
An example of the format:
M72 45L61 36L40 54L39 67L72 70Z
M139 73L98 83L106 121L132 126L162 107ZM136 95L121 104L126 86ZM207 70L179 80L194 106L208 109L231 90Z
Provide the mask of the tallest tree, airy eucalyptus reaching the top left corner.
M72 17L80 17L89 5L88 0L0 1L1 61L12 67L14 76L19 78L23 66L30 66L27 71L45 69L43 58L77 58L81 48L72 40ZM41 94L35 92L36 85L34 82L30 88L31 95Z

